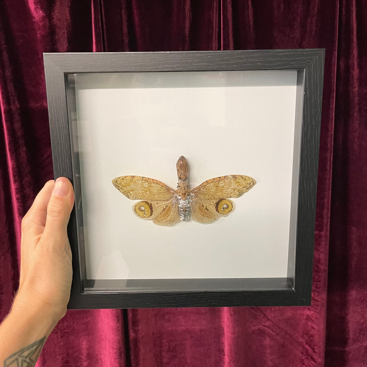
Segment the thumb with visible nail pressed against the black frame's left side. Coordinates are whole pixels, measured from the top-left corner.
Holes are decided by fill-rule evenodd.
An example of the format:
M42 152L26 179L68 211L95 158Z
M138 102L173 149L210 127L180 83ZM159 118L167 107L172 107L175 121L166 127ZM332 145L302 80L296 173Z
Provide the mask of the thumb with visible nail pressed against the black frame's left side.
M74 204L74 191L71 182L65 177L55 181L54 189L47 204L47 217L44 233L61 233L68 226L70 212Z

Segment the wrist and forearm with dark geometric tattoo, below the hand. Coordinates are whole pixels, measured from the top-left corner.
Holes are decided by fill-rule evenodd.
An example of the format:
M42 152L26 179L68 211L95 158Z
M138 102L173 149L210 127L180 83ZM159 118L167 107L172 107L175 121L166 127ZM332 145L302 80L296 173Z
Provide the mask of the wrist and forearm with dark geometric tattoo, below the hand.
M17 297L0 325L0 366L33 367L58 318L46 306L27 305Z

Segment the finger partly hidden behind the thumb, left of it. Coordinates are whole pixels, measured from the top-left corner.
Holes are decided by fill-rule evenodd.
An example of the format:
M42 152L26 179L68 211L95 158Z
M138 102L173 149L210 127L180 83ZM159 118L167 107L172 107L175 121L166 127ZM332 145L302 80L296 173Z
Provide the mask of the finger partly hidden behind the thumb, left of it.
M34 199L22 220L22 229L32 235L41 234L46 225L47 204L54 188L54 180L47 181Z

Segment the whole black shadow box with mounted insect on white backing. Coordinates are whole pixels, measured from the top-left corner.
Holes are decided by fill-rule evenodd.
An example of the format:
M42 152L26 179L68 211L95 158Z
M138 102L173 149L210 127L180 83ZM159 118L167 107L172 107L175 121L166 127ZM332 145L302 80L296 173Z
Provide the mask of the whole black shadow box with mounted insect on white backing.
M310 304L324 50L44 66L76 198L69 308Z

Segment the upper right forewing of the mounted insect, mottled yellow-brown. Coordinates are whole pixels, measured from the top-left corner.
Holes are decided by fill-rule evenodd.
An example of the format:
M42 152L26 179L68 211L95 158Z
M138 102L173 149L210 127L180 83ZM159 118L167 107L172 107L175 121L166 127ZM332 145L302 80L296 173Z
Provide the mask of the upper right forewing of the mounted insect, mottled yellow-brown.
M199 200L240 197L254 187L256 181L250 176L229 175L211 178L191 190Z

